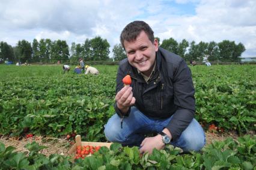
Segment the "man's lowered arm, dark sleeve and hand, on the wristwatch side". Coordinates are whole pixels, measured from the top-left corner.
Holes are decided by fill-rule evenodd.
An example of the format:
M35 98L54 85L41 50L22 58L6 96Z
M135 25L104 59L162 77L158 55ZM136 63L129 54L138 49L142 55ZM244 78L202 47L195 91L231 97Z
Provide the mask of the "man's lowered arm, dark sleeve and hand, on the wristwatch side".
M172 117L168 126L162 130L171 140L177 139L184 129L194 118L195 114L195 97L192 76L186 62L181 61L177 71L174 74L174 104L178 106L178 110ZM165 144L161 135L145 138L141 143L139 151L141 153L152 153L153 148L160 150Z

